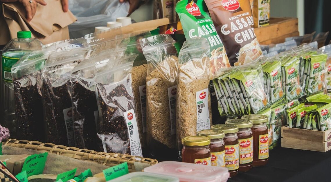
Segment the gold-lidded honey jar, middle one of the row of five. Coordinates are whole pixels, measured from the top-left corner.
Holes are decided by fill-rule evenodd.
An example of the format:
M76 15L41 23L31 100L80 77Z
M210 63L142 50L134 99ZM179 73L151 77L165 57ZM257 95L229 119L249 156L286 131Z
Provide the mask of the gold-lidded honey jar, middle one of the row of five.
M233 124L215 124L211 128L224 132L225 167L228 168L230 177L236 176L239 169L238 126Z

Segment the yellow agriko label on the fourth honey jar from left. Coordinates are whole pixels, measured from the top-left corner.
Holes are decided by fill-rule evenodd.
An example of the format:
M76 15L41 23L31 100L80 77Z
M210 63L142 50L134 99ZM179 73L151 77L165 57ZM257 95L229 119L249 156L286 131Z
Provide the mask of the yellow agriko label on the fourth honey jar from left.
M239 156L240 164L253 162L253 137L239 139Z

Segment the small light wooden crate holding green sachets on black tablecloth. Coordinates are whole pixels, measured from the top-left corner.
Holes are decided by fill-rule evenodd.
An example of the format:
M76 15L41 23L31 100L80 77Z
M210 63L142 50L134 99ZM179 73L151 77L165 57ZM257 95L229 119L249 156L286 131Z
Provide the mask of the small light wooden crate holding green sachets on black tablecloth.
M281 128L282 147L326 152L331 149L331 129L315 131L299 128Z

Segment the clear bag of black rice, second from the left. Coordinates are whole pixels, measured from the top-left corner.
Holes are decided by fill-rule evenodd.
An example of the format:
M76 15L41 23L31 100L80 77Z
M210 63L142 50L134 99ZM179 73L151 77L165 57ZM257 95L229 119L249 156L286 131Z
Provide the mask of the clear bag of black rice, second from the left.
M74 146L70 76L72 69L85 59L86 52L87 49L77 48L50 54L41 71L47 142Z

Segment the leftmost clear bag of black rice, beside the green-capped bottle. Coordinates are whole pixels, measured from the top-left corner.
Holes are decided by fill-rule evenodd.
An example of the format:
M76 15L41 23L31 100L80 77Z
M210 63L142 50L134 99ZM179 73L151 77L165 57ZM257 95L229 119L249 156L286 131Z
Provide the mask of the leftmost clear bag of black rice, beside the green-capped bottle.
M49 53L33 51L12 67L18 140L45 142L40 69Z

